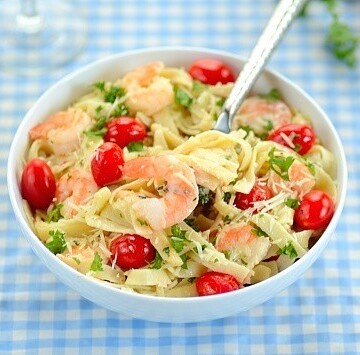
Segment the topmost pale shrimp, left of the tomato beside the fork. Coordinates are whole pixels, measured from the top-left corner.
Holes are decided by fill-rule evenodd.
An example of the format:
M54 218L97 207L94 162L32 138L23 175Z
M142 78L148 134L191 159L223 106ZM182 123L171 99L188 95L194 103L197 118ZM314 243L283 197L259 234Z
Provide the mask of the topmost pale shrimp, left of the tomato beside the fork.
M126 74L121 85L126 88L126 104L135 112L151 116L174 102L173 87L160 76L162 62L151 62Z

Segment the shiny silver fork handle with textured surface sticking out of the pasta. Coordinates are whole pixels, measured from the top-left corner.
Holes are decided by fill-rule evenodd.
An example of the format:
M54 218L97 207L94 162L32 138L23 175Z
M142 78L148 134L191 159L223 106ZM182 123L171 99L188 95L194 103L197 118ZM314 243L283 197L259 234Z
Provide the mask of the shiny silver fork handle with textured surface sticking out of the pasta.
M281 0L279 2L226 99L214 129L225 133L230 132L240 105L306 1Z

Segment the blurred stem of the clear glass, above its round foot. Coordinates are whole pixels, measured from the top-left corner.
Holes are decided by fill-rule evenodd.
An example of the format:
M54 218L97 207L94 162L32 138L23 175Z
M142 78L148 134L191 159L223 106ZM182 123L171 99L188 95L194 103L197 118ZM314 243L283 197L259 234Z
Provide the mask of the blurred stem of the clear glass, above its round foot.
M18 29L25 34L34 34L44 26L43 17L38 13L36 0L20 0L20 13L16 17Z

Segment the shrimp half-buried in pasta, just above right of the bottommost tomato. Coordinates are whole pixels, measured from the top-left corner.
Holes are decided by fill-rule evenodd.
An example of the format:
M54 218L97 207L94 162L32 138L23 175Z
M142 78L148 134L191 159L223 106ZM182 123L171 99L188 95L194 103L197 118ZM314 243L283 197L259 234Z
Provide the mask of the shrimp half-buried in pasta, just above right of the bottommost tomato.
M248 268L253 268L267 254L270 240L258 237L253 226L238 223L224 227L216 237L215 248L229 253L232 261L240 261Z

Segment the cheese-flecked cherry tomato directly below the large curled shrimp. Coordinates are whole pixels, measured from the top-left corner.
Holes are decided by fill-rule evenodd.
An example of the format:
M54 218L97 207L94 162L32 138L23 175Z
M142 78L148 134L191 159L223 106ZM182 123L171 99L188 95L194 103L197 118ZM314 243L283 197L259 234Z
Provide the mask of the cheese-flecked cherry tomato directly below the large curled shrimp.
M110 245L111 259L123 270L138 269L150 264L156 250L150 241L137 234L124 234Z

